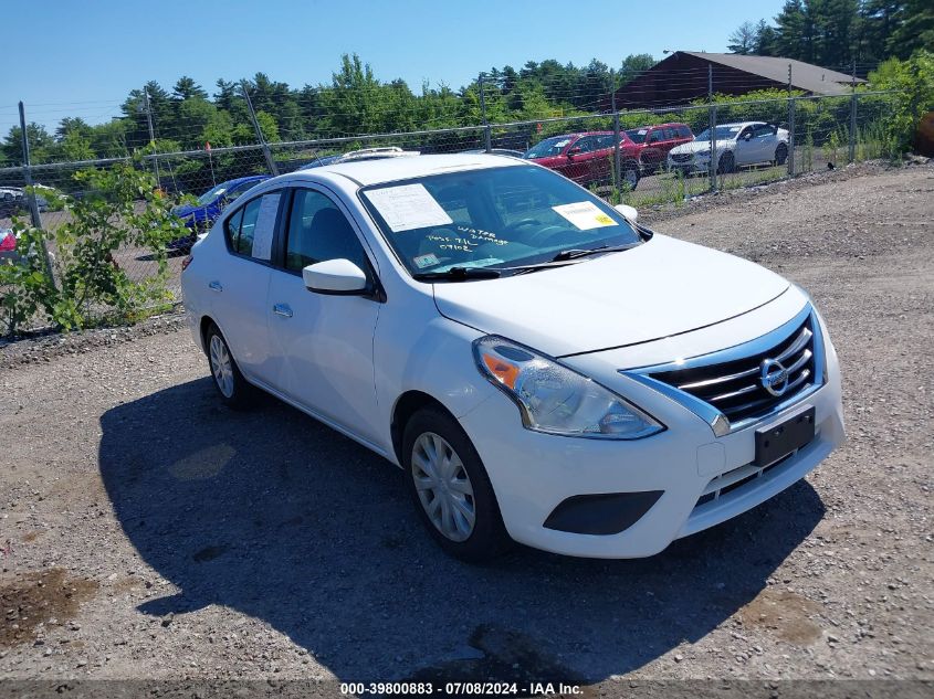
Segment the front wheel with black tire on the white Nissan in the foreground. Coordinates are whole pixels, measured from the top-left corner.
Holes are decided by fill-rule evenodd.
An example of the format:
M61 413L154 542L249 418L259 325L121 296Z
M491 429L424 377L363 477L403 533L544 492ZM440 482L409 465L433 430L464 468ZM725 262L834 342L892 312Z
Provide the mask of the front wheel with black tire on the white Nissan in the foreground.
M402 466L422 523L447 553L482 563L508 548L490 477L456 420L434 407L416 412L402 433Z

